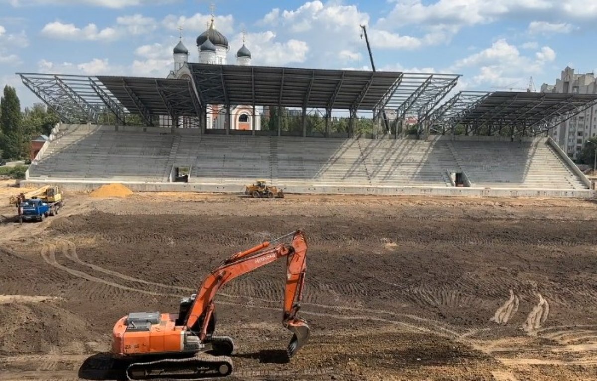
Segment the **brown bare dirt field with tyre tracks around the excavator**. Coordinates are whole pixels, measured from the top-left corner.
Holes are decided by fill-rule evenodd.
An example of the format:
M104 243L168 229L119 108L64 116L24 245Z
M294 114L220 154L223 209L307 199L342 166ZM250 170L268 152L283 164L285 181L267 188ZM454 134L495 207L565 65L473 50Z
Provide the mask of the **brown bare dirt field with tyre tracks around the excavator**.
M105 352L118 318L177 311L221 259L296 228L309 240L310 341L281 361L282 261L239 278L217 298L233 379L597 380L595 202L67 201L23 225L0 207L0 380L115 379Z

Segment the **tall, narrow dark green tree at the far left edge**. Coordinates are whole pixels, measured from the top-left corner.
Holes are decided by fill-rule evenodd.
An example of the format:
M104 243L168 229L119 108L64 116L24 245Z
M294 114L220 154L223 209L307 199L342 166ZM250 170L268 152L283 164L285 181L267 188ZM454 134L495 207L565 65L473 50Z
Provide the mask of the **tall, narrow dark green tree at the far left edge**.
M0 98L0 149L5 159L21 159L29 150L28 137L24 134L21 104L14 87L5 86Z

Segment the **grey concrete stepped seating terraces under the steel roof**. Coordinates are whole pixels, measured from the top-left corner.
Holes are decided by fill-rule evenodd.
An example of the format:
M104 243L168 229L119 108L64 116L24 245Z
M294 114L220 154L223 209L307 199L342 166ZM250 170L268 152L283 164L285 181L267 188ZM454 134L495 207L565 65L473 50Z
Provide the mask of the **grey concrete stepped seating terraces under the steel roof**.
M166 181L191 166L191 182L288 184L450 184L464 171L475 186L586 189L544 140L533 143L174 135L76 126L50 143L30 175ZM112 177L113 177L112 176ZM482 184L482 185L478 185Z

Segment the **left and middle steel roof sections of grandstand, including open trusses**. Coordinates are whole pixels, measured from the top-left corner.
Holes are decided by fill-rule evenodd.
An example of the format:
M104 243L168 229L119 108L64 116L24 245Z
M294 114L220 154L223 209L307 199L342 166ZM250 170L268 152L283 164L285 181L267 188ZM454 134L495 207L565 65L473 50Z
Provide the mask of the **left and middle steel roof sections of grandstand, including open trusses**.
M201 120L210 104L302 109L399 110L427 118L460 75L369 72L188 63L192 80L124 76L17 73L23 83L69 123L93 122L110 110L126 124L139 114L152 125L156 115ZM187 118L188 119L188 118Z

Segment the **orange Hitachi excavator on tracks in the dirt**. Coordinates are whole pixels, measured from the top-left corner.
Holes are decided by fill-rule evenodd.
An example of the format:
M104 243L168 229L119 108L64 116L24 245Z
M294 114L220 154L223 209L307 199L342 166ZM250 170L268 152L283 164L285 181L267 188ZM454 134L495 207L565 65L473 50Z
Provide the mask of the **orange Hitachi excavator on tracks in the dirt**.
M292 237L290 243L273 246L288 237ZM113 355L127 360L129 380L228 376L232 360L227 356L232 354L234 343L228 336L214 335L216 293L234 278L286 258L282 325L293 333L287 348L288 358L293 357L309 337L307 322L297 315L303 297L306 255L302 230L236 253L205 277L196 294L181 300L177 314L133 312L118 320L113 330Z

